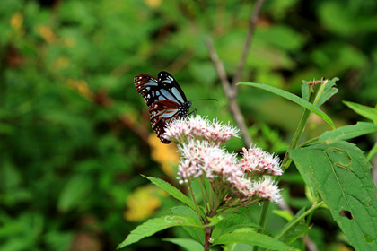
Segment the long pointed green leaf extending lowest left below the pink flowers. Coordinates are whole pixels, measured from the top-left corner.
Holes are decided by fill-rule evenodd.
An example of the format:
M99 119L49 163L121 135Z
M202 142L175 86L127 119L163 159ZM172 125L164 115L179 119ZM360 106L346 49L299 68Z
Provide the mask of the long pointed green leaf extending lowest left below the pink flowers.
M118 248L126 247L130 244L139 241L142 238L152 236L156 232L161 231L163 229L168 229L177 226L190 226L204 231L204 228L197 225L196 221L191 217L166 215L160 218L148 220L144 222L142 225L138 226L136 229L131 231L131 233L122 243L118 245Z

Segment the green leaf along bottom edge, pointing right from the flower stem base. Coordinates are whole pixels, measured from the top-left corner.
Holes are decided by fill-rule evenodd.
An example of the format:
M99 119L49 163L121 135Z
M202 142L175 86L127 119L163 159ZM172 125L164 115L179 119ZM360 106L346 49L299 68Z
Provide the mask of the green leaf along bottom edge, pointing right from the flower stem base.
M214 245L245 243L253 246L269 248L272 250L296 250L285 243L267 235L262 235L253 231L238 231L224 234L215 239Z

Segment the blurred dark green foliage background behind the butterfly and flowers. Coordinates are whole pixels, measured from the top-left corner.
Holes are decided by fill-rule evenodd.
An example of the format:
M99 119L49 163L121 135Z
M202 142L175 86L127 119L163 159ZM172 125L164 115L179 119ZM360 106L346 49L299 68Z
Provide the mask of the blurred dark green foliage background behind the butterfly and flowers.
M136 226L123 216L127 196L147 184L138 174L174 180L149 157L148 111L133 77L166 70L189 100L219 100L195 102L200 114L233 123L204 39L232 76L251 12L250 1L1 1L0 250L116 247ZM375 106L375 13L374 0L267 1L241 81L299 93L302 79L338 76L325 108L337 125L354 123L360 117L340 100ZM285 151L301 108L244 86L238 100L254 142ZM324 130L314 118L307 134ZM283 185L293 208L309 205L297 173ZM156 213L171 203L163 198ZM258 212L250 210L255 221ZM313 221L320 250L343 247L341 235L329 238L338 235L329 212ZM172 248L156 238L129 248L153 247Z

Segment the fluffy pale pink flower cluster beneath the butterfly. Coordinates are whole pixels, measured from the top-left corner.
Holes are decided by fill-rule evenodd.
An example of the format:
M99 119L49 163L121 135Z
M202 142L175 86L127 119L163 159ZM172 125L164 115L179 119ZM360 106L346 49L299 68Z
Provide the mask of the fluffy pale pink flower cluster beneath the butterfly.
M261 201L279 202L280 190L268 176L280 176L280 160L257 147L243 148L241 160L225 150L222 143L237 136L238 129L200 116L177 120L165 137L180 143L178 179L189 183L206 177L214 195L224 205L239 206Z

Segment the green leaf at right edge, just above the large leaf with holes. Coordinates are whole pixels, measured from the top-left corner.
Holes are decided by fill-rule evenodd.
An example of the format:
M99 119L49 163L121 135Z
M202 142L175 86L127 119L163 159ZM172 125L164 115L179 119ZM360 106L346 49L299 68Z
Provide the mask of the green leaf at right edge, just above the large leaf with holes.
M369 122L358 122L356 125L346 125L325 132L320 135L320 142L335 143L340 140L353 139L355 137L377 132L377 125Z

